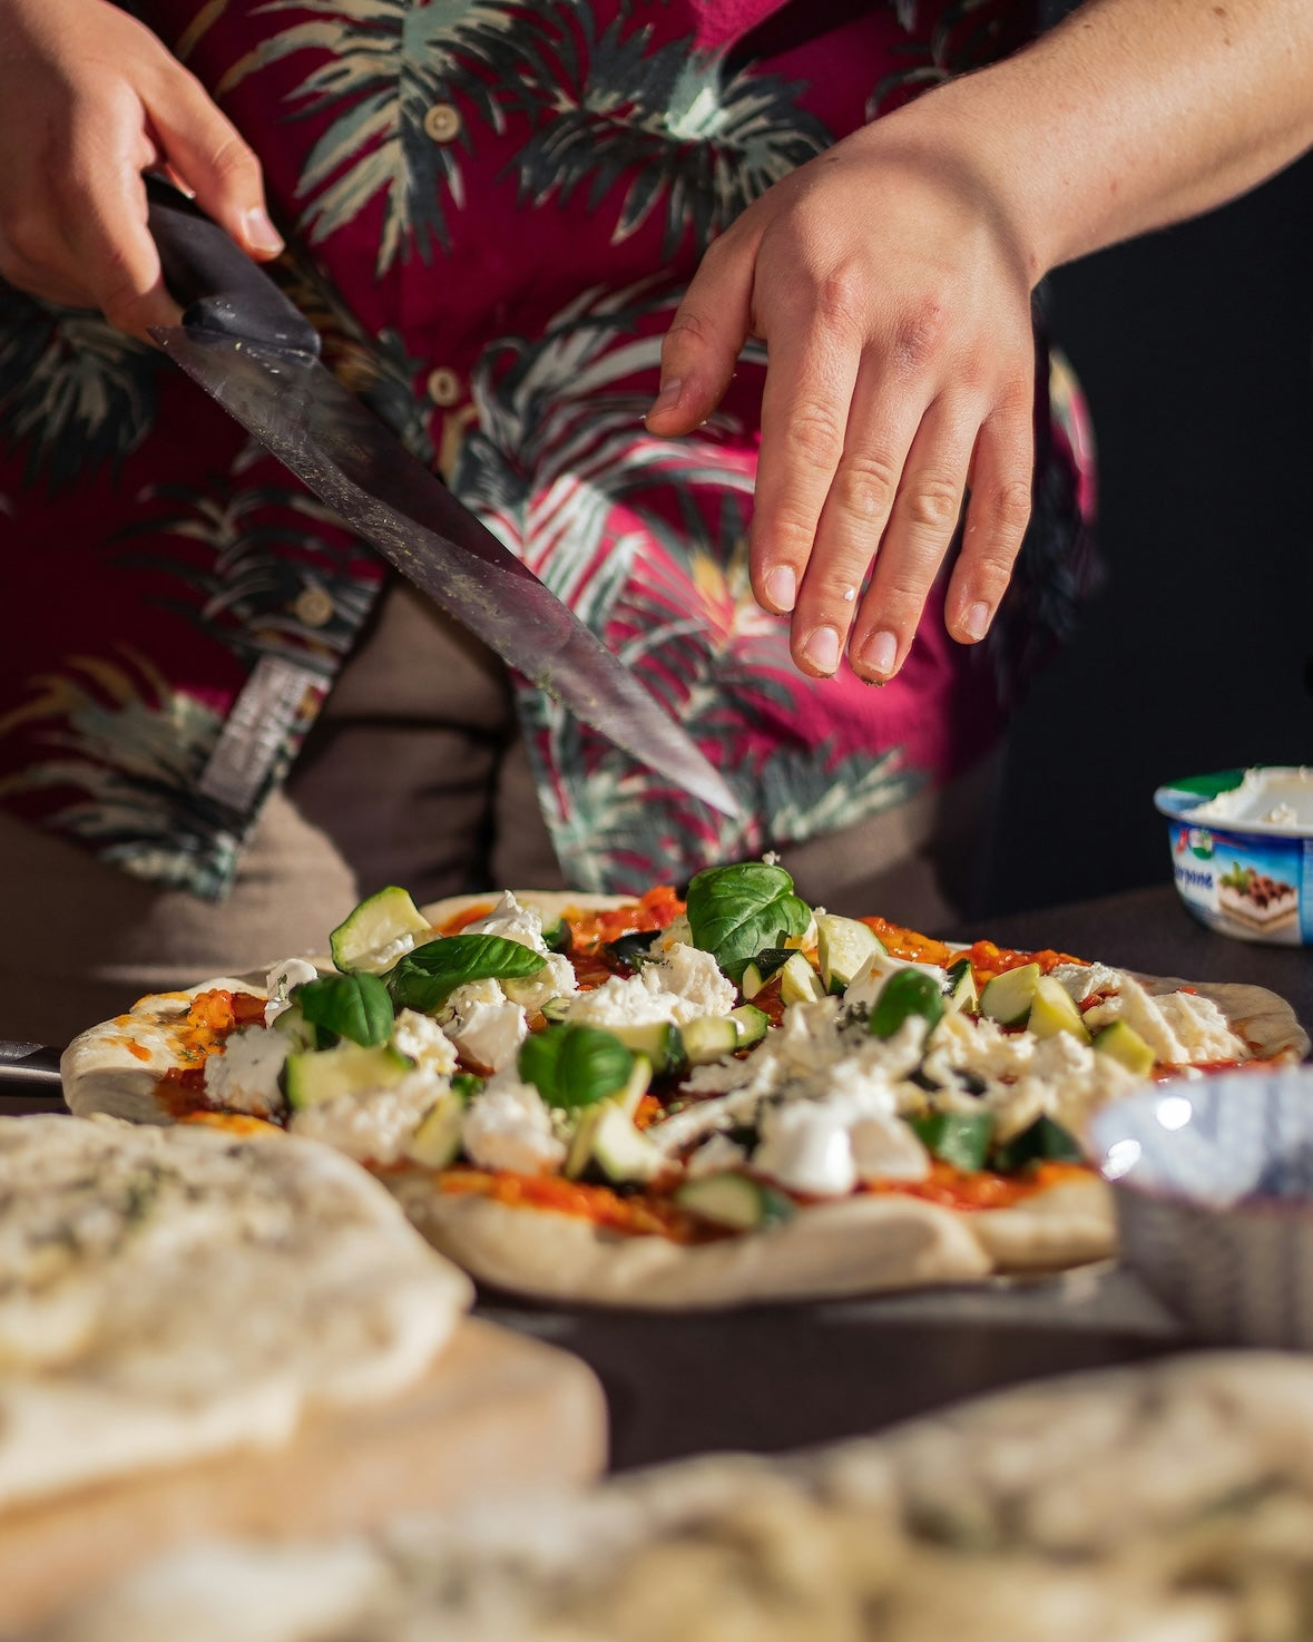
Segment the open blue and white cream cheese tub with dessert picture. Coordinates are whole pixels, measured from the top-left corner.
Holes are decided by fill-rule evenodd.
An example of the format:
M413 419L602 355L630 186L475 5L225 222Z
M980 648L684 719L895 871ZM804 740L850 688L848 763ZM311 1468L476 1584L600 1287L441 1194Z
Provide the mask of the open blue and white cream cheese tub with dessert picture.
M1210 929L1313 943L1313 770L1256 765L1160 787L1180 898Z

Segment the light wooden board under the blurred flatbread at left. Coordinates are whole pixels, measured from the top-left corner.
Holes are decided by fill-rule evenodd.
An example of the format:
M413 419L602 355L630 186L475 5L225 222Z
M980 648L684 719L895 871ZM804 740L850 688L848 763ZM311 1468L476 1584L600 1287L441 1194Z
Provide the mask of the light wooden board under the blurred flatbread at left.
M606 1399L592 1371L468 1319L405 1396L312 1420L289 1448L0 1512L0 1635L184 1540L366 1529L407 1511L583 1484L604 1465Z

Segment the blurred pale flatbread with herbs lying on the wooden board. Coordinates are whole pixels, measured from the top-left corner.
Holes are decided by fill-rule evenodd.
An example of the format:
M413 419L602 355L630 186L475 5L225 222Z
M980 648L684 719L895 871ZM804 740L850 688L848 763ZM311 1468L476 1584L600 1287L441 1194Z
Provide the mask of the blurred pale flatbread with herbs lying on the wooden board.
M399 1392L469 1299L327 1148L0 1118L0 1507Z

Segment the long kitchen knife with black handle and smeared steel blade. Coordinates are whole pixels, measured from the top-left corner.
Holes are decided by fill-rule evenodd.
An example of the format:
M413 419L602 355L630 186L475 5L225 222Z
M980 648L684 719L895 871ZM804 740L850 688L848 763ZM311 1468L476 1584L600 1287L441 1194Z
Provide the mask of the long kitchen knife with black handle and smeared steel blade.
M515 672L727 816L734 793L596 634L318 361L299 309L185 195L146 179L185 314L151 335L223 409Z

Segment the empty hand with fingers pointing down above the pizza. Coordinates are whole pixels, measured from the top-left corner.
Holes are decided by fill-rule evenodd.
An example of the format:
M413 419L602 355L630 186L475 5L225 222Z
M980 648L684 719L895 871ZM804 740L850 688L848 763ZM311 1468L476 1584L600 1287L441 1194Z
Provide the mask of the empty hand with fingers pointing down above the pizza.
M981 174L903 135L916 108L799 167L711 246L648 414L653 432L689 432L745 340L766 343L752 585L793 611L814 677L845 644L858 677L898 672L967 488L945 621L981 639L1029 517L1027 258Z

